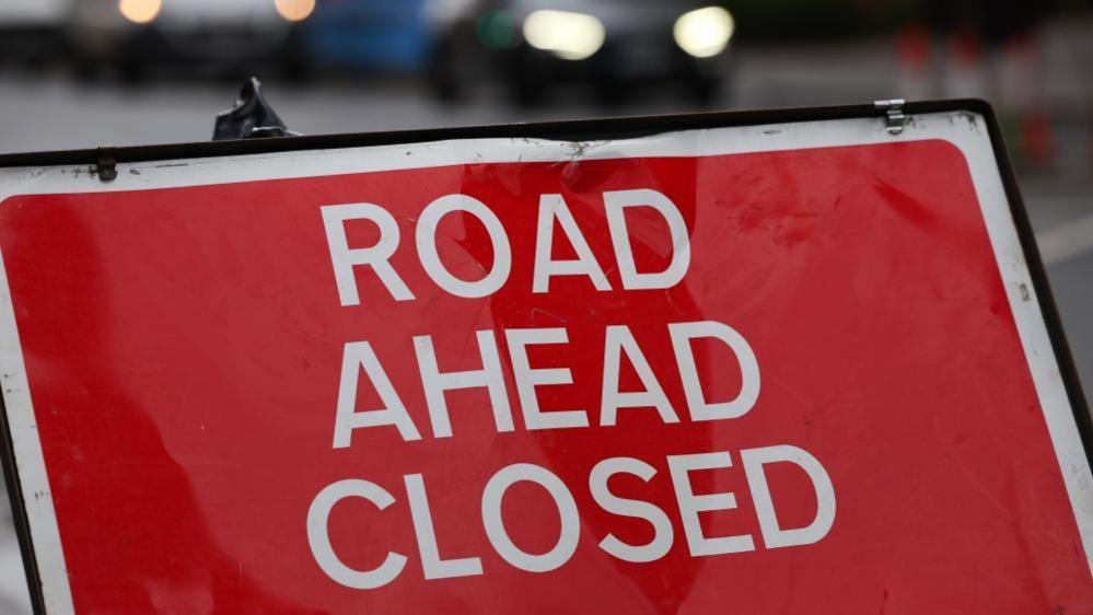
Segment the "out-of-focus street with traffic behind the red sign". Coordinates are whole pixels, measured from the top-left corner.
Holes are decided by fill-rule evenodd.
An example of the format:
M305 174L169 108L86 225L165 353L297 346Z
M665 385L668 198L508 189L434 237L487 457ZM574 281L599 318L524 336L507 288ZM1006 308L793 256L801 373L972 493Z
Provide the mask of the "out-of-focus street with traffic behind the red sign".
M1093 390L1093 0L0 0L0 152L974 96ZM30 613L0 503L0 615Z

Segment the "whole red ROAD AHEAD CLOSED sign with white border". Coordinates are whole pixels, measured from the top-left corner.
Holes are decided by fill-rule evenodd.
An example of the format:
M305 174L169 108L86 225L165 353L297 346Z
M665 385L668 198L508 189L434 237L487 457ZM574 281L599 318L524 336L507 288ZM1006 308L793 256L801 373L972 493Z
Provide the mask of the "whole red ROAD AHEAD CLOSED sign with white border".
M3 158L37 612L1089 612L993 115L906 113Z

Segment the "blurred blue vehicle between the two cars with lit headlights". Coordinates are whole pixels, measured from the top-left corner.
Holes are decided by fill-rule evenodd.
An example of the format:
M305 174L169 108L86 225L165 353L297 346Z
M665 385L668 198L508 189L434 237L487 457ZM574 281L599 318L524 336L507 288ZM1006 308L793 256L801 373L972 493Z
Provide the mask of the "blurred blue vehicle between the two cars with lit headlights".
M429 53L425 0L319 0L301 25L314 66L352 71L412 72Z

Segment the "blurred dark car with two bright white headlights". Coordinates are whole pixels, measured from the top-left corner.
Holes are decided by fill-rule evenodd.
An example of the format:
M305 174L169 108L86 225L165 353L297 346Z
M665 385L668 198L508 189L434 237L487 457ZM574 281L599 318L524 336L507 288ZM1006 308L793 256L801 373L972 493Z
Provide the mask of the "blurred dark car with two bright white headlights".
M614 101L670 81L711 101L730 73L735 32L710 0L433 0L426 15L438 95L456 100L485 78L524 104L567 82Z

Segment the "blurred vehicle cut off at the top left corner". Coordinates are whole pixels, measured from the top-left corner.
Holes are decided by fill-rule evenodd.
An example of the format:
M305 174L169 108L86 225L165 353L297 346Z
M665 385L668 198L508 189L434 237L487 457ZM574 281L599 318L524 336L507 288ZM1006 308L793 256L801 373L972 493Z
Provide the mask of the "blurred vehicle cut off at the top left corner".
M0 63L58 55L70 0L0 0Z

